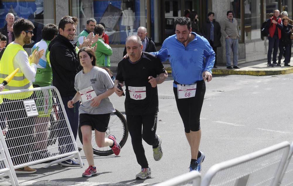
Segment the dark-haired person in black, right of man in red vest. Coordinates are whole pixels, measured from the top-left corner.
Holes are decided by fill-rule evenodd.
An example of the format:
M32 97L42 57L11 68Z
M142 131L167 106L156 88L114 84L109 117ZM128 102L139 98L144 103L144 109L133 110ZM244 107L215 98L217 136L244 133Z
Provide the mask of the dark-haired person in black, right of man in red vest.
M289 18L288 17L283 17L282 18L283 21L283 28L281 30L281 39L280 39L280 43L279 43L279 57L278 57L278 64L281 64L281 59L283 56L283 53L285 52L285 66L290 66L288 63L290 62L290 50L292 47L292 40L290 38L290 34L292 33L292 28L293 26L290 25L289 22ZM285 51L284 51L285 48Z

